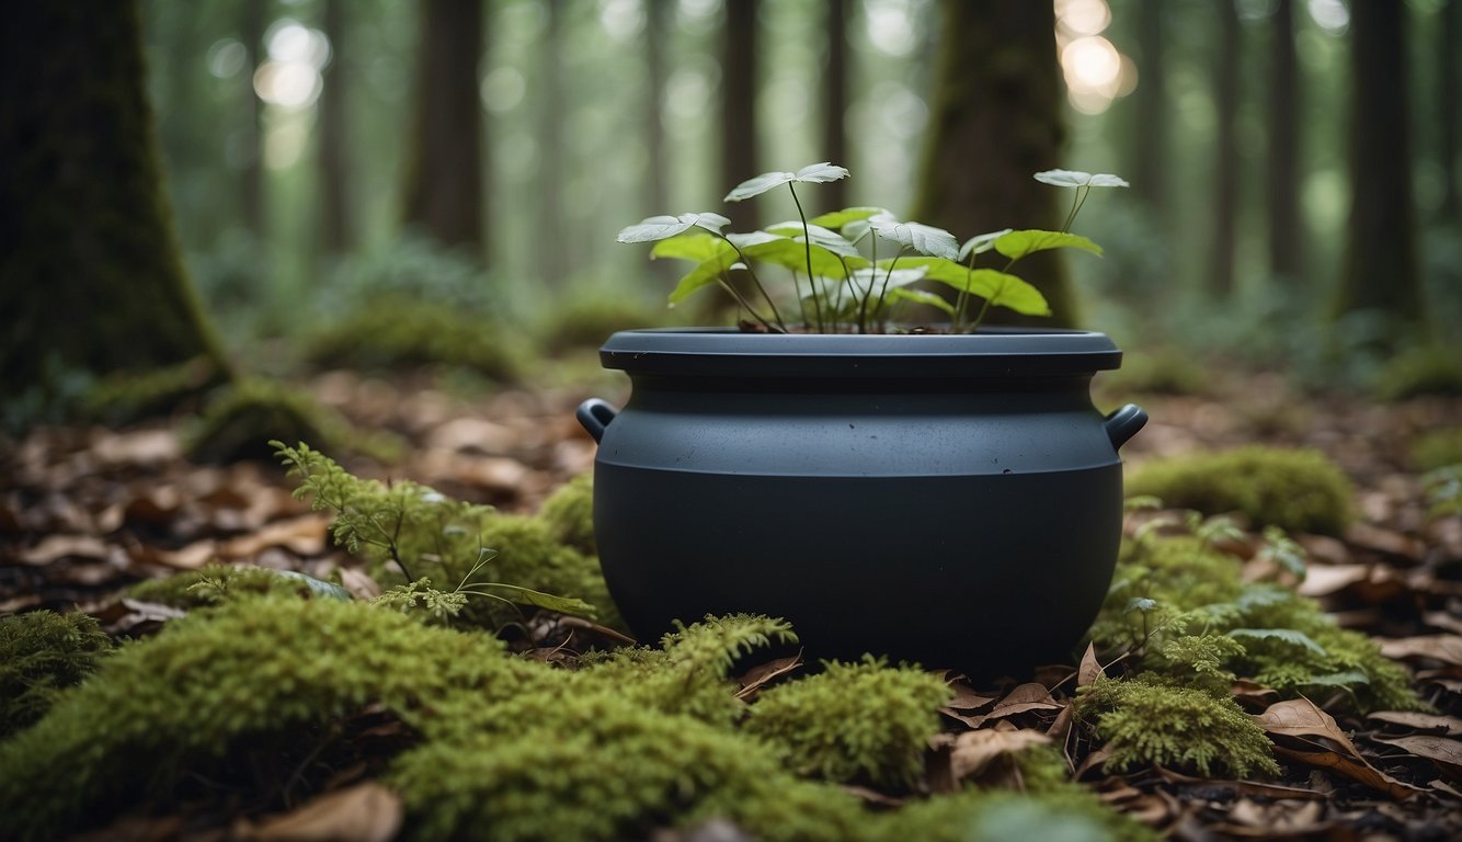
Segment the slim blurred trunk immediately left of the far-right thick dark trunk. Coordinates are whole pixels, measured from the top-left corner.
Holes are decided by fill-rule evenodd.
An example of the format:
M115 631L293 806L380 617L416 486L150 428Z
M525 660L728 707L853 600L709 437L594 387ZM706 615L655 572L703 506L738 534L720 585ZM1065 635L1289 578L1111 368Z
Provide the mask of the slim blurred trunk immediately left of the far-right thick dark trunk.
M1281 282L1304 281L1300 219L1300 95L1294 53L1294 0L1279 0L1269 58L1269 272Z

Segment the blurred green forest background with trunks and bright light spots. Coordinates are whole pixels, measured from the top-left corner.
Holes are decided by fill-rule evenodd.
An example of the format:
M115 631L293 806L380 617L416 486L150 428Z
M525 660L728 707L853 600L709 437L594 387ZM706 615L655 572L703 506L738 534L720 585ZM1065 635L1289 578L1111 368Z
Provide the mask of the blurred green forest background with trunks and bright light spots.
M1462 382L1458 6L143 0L140 35L186 272L256 371L425 335L491 374L501 348L466 346L725 322L668 311L671 268L616 232L832 159L852 178L810 210L879 205L961 238L1032 225L980 184L1121 174L1132 190L1077 221L1107 254L1067 260L1069 322L1155 360L1351 387L1399 361ZM1045 132L1004 89L1031 19L1058 61L1060 96L1035 104L1054 159L1013 172L993 148ZM985 108L981 134L939 132L961 104ZM980 208L940 206L942 181Z

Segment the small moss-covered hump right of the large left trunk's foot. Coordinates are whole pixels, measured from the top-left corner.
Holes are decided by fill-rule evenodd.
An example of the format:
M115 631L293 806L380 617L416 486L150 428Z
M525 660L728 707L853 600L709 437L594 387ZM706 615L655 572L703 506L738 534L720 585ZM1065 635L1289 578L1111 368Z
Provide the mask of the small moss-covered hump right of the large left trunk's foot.
M273 456L272 440L323 441L330 450L382 460L401 450L395 437L358 431L310 393L262 377L234 380L213 393L189 430L186 446L189 456L200 462L266 462Z

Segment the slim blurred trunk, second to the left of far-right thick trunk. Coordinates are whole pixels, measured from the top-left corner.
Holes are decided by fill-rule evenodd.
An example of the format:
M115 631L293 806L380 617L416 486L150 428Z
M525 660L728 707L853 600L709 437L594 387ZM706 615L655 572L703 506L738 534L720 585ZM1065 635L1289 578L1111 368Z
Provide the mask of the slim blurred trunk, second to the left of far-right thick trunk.
M1234 294L1234 241L1238 225L1238 10L1234 0L1216 0L1218 57L1213 99L1213 230L1208 256L1208 291L1224 300Z

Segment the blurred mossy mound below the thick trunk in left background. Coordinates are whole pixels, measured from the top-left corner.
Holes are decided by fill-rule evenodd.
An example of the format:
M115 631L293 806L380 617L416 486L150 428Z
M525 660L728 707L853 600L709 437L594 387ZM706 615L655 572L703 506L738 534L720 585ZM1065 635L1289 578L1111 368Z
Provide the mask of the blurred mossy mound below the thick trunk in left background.
M519 361L499 325L471 310L411 295L385 294L357 304L308 342L319 365L399 368L455 365L494 380L515 380Z

